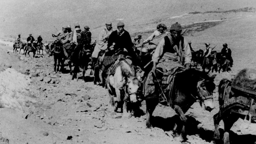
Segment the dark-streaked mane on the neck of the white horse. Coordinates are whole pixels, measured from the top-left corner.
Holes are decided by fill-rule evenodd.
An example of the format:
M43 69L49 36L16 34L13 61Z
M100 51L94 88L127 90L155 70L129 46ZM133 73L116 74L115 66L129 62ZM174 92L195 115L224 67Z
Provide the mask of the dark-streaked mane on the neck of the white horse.
M126 61L120 61L120 67L121 67L121 74L123 77L131 78L133 84L139 83L138 78L135 76L134 69L131 65L129 65Z

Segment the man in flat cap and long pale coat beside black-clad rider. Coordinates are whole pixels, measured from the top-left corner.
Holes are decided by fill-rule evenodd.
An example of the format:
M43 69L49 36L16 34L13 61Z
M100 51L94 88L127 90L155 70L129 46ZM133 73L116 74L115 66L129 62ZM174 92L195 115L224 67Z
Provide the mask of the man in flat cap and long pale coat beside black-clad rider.
M98 36L98 41L94 47L94 51L92 53L92 61L94 67L94 84L98 84L100 81L99 78L99 64L98 57L102 57L105 53L105 50L108 47L108 38L110 34L113 32L112 23L106 23L105 28L102 29Z

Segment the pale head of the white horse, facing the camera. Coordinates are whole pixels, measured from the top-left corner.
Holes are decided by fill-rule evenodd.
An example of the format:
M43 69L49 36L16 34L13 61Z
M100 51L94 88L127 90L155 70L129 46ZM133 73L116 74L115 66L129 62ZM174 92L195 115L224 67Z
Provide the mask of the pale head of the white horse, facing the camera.
M131 102L137 102L138 88L140 87L139 85L140 83L137 77L133 76L133 77L127 78L126 94L130 98Z

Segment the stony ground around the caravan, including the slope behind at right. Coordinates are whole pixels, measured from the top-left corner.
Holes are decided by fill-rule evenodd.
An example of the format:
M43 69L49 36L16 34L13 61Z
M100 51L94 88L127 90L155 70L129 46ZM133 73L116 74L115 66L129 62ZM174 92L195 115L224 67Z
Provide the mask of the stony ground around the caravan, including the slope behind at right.
M222 78L231 79L239 70L255 68L255 9L194 12L172 18L161 18L145 25L139 33L146 38L156 23L180 21L188 29L185 37L192 40L195 50L205 42L217 45L224 42L232 50L234 67L231 72L217 74L215 84ZM253 29L253 30L252 30ZM138 33L131 33L135 36ZM111 111L108 91L93 84L93 77L71 80L68 73L53 73L53 57L36 58L12 53L12 45L0 45L0 143L180 143L172 136L177 117L170 107L158 105L154 111L152 129L146 129L146 105L142 102L140 117L122 117ZM23 53L23 51L21 51ZM88 73L87 73L88 74ZM81 73L79 74L81 76ZM204 111L196 102L186 113L189 118L188 141L192 144L211 142L213 115L219 110L217 88L214 91L216 108ZM240 123L239 123L240 122ZM223 129L223 124L220 124ZM240 126L239 128L237 128ZM233 143L252 143L256 140L254 124L243 121L233 128ZM241 130L243 128L243 130Z

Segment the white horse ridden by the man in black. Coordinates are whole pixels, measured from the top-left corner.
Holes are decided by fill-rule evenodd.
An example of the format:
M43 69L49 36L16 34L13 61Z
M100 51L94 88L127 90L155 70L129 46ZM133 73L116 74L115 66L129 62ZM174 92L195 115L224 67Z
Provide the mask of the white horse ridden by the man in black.
M135 104L139 99L138 78L135 76L134 68L122 58L118 58L108 69L106 85L110 96L110 105L117 112L121 108L124 116L130 114L129 104Z

